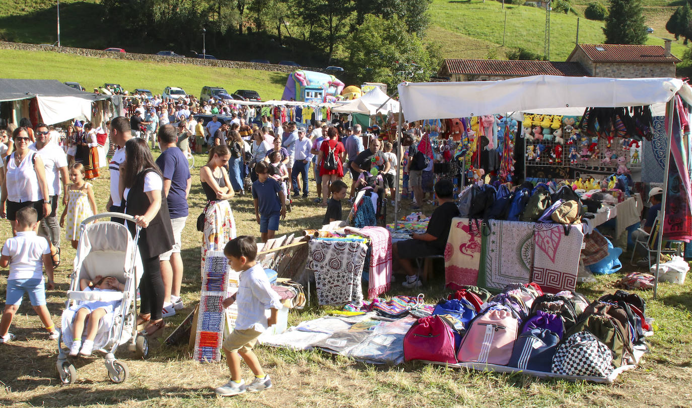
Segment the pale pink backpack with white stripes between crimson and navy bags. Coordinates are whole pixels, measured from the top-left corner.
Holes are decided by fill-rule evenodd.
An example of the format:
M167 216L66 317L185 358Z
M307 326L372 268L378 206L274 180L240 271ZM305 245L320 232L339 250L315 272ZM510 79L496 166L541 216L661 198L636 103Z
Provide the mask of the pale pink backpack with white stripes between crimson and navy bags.
M460 362L507 365L518 329L518 320L509 310L488 309L471 322L457 359Z

